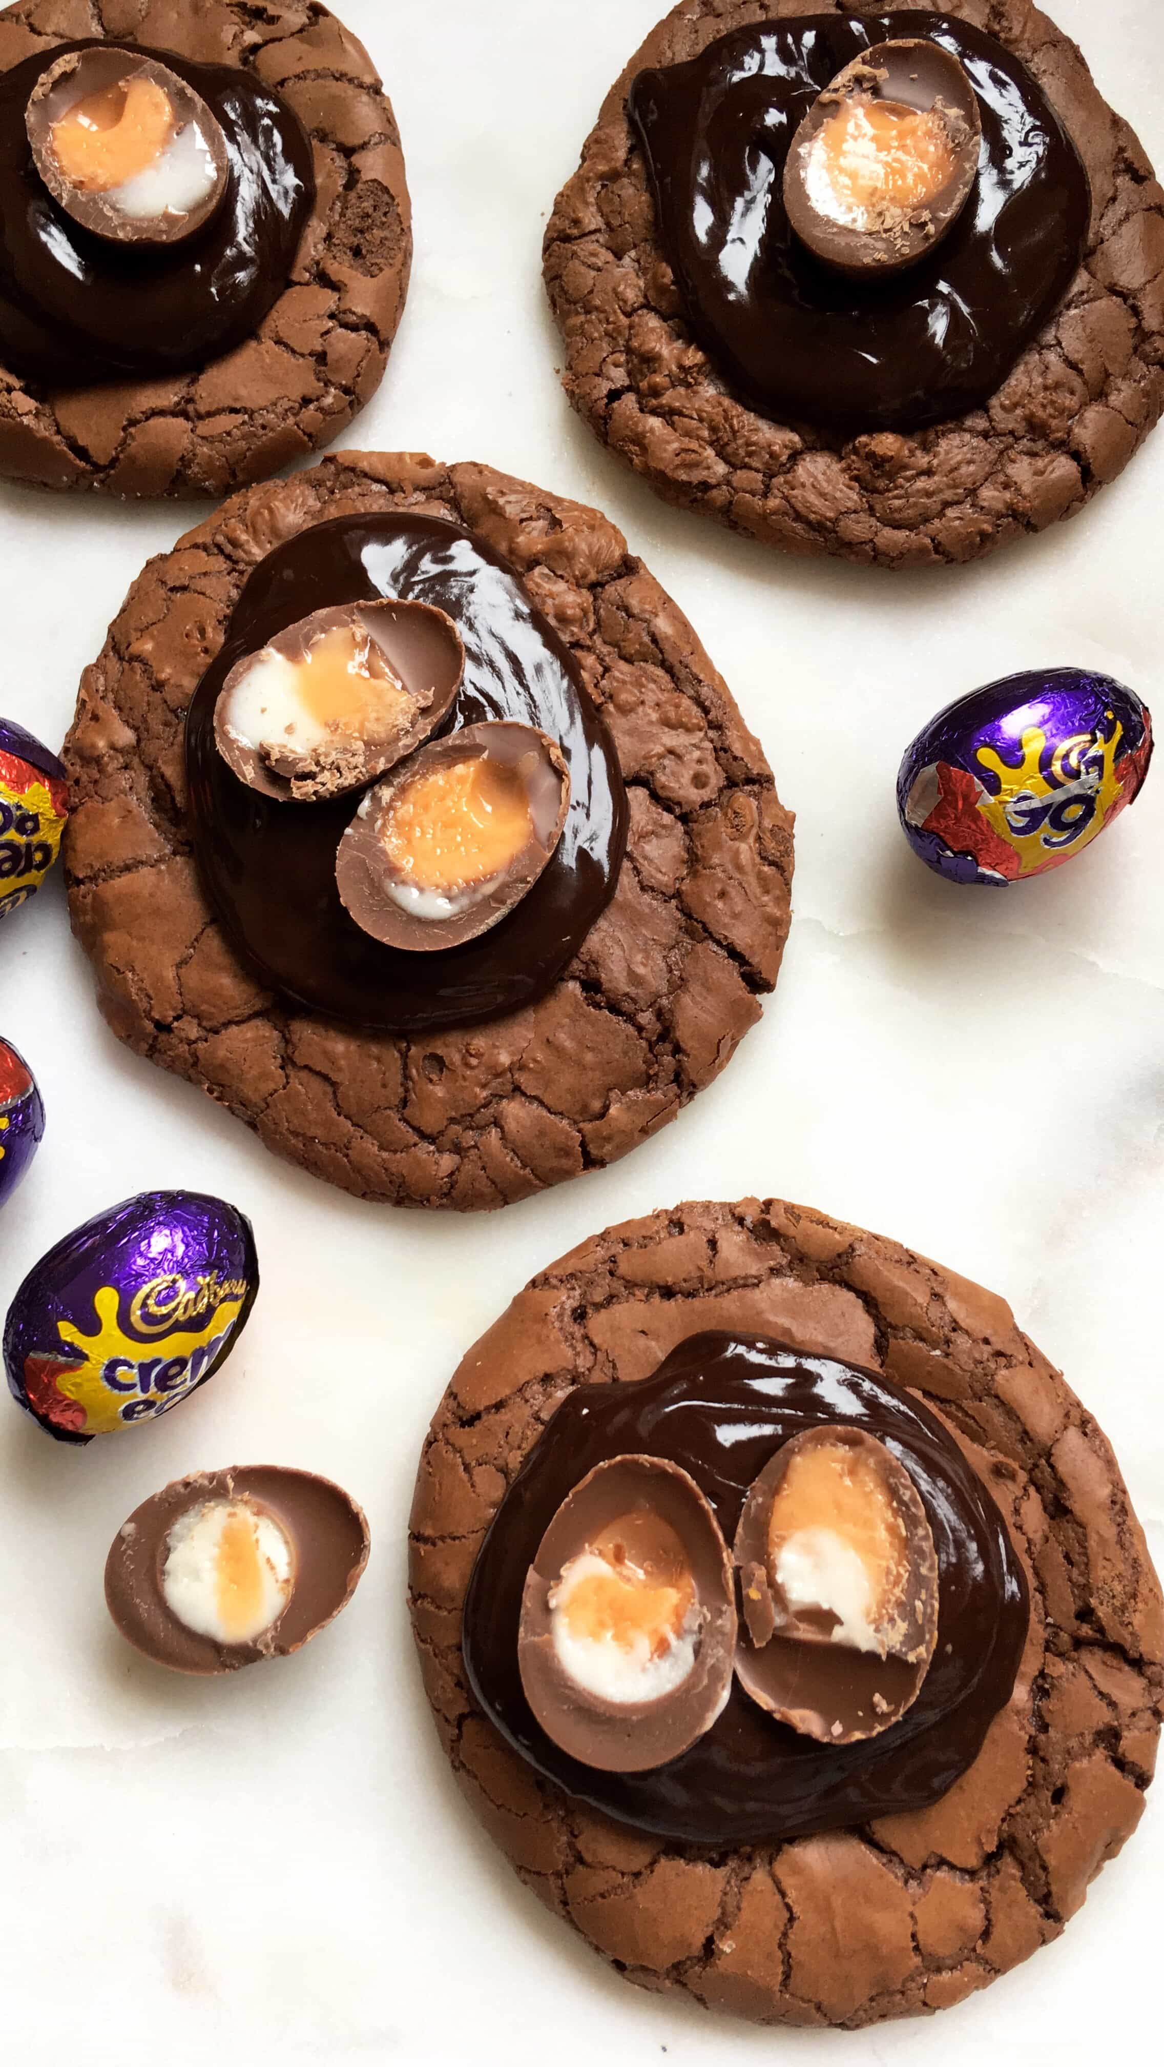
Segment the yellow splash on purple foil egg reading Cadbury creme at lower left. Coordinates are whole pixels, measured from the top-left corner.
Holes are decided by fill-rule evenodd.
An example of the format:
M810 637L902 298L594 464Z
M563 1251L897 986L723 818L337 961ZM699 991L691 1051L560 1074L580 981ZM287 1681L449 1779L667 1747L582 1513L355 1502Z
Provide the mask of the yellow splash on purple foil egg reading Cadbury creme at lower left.
M205 1377L242 1313L242 1298L225 1298L201 1327L167 1335L163 1356L145 1354L141 1341L130 1341L122 1331L114 1286L101 1286L93 1306L93 1335L85 1335L72 1321L56 1323L60 1339L83 1354L81 1364L56 1372L56 1385L66 1399L85 1408L85 1434L112 1434L134 1420L163 1414Z

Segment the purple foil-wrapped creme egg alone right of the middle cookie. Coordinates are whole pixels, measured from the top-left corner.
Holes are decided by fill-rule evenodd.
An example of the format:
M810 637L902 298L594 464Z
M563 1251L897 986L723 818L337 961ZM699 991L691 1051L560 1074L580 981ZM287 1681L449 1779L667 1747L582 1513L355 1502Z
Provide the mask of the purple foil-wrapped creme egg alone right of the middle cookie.
M1137 796L1152 717L1106 674L1009 674L939 711L897 773L914 854L951 883L1019 883L1088 847Z

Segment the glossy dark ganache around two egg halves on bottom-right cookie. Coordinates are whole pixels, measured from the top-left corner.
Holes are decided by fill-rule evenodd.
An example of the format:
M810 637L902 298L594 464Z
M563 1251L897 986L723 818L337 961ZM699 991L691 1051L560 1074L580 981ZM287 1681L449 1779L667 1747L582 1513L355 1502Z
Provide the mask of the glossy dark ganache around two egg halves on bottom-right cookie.
M560 1751L525 1701L517 1637L525 1575L573 1486L610 1457L670 1459L691 1474L732 1542L769 1457L829 1424L891 1451L932 1532L937 1647L912 1707L877 1736L831 1745L777 1722L736 1683L722 1716L668 1765L598 1771ZM463 1654L478 1701L538 1773L637 1829L740 1846L939 1800L1011 1695L1028 1614L1003 1517L928 1408L872 1370L802 1356L763 1335L705 1333L672 1350L653 1379L579 1385L566 1395L482 1544L465 1596Z

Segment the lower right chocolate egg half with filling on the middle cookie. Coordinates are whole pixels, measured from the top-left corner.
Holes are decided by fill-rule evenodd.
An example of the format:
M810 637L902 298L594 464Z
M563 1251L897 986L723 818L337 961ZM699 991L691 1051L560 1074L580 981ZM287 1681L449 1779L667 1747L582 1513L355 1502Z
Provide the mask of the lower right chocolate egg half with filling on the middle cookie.
M463 726L385 775L339 841L335 881L364 932L416 953L476 940L554 854L571 802L533 726Z

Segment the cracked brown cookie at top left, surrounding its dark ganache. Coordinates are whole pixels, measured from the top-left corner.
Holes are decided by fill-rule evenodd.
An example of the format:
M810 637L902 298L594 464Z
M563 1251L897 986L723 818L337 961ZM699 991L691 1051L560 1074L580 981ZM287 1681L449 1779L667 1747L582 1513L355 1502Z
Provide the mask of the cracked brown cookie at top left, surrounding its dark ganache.
M285 285L265 296L258 329L225 353L190 368L178 356L153 376L95 384L45 382L27 366L0 364L0 473L114 496L221 496L318 451L380 382L411 265L393 110L366 50L314 0L261 8L21 0L0 14L0 93L14 66L48 62L60 43L91 37L132 39L196 68L240 68L265 95L261 136L271 132L277 97L287 112L285 149L296 165L304 159L304 227L279 271ZM25 178L21 159L14 178ZM122 331L134 327L136 318ZM39 349L29 351L33 366L43 364Z

